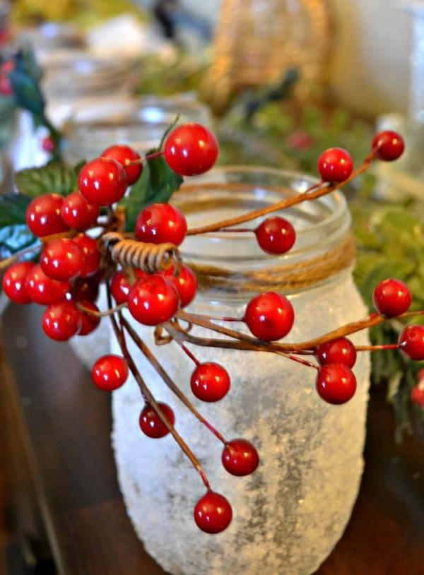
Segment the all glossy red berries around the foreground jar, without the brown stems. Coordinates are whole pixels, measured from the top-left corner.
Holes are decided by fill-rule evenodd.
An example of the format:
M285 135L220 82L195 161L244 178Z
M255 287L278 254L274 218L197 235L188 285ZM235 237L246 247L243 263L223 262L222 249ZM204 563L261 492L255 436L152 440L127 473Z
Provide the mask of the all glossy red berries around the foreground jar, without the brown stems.
M403 149L399 134L380 132L372 141L369 158L391 161L398 158ZM183 124L170 131L163 152L153 154L154 157L158 155L163 155L167 165L178 174L192 176L212 167L218 157L218 144L215 136L204 126ZM146 160L149 160L148 156ZM28 206L28 228L42 239L40 261L13 263L4 274L3 287L13 302L35 302L47 306L42 328L50 338L61 341L73 335L86 336L98 326L101 314L95 300L103 267L107 268L107 282L114 302L128 307L131 316L143 325L159 326L175 321L173 318L178 310L194 299L196 275L189 267L181 264L176 268L171 263L155 273L127 266L120 269L111 263L110 258L102 260L102 252L98 249L102 234L97 240L89 235L88 230L99 224L100 208L117 203L127 187L139 179L143 161L129 146L110 146L99 158L83 166L78 178L78 191L66 197L45 194ZM329 190L333 189L331 186L338 186L351 178L351 155L341 148L325 150L318 160L318 172L322 180L305 192L305 198L317 186ZM295 245L293 225L280 216L266 218L255 230L248 231L254 232L261 249L271 256L285 254ZM176 249L187 235L187 222L174 206L153 203L139 213L134 235L139 242L170 244L172 249ZM396 279L379 283L373 299L377 309L375 316L401 316L411 305L410 291ZM116 311L110 310L110 313ZM290 333L295 313L288 297L278 292L264 292L248 302L241 319L222 318L223 321L225 319L245 322L256 338L244 336L245 339L253 341L257 347L269 347ZM406 326L397 347L413 360L424 360L424 326ZM216 362L200 363L184 345L182 349L196 364L190 378L194 396L208 403L222 400L231 385L225 367ZM102 391L119 389L128 377L129 367L136 373L126 345L122 344L122 350L124 357L105 355L93 365L93 383ZM322 343L305 347L303 351L314 355L317 362L301 359L301 352L286 355L317 369L315 387L318 395L332 404L349 401L357 385L352 371L356 348L351 340L344 336L332 340L322 338ZM148 397L146 394L143 396ZM424 406L422 381L411 391L411 399ZM177 437L175 414L170 405L161 402L154 405L157 406L153 407L146 400L139 417L141 431L153 439L165 437L170 431ZM259 465L259 456L252 443L240 438L226 441L207 422L206 425L223 441L221 461L225 470L237 476L253 473ZM223 495L213 492L205 479L204 482L207 492L196 503L194 520L206 533L219 533L230 524L232 509Z

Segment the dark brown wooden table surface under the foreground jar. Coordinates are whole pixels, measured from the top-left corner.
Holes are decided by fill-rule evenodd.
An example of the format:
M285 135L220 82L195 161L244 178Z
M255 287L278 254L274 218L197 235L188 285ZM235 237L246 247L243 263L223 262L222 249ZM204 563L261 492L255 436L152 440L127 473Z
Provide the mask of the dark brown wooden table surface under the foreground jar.
M59 573L163 574L136 538L119 493L110 396L95 389L69 345L45 337L41 313L35 305L6 309L0 363ZM423 455L424 437L396 446L384 389L374 391L360 494L318 575L424 574Z

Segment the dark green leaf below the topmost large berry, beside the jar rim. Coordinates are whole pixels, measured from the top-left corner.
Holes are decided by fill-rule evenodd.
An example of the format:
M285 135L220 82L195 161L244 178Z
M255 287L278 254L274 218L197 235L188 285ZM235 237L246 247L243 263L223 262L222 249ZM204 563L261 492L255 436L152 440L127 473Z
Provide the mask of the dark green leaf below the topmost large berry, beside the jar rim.
M134 232L136 219L143 208L151 203L167 202L182 182L182 177L170 169L162 156L148 160L130 194L119 202L126 212L126 231Z

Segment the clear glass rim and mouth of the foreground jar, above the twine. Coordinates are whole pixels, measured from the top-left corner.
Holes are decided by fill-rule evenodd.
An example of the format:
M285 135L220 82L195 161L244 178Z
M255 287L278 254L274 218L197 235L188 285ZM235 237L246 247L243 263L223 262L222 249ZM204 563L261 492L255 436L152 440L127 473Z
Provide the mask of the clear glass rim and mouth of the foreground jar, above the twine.
M272 167L216 167L186 181L172 196L172 203L184 213L189 228L199 227L271 206L304 193L316 182L311 176ZM341 242L351 225L346 198L334 191L235 227L254 230L273 215L288 219L295 227L296 242L287 254L266 254L253 233L216 231L188 236L180 248L182 256L191 260L212 257L214 261L254 261L255 266L276 259L292 263L317 251L328 251Z

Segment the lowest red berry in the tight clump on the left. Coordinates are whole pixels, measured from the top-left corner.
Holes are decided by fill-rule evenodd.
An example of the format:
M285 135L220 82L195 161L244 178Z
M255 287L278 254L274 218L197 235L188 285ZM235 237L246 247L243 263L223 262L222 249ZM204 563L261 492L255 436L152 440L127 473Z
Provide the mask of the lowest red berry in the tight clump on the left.
M68 340L81 328L81 313L71 302L53 304L42 316L42 328L49 338Z

